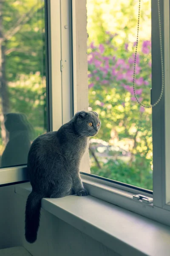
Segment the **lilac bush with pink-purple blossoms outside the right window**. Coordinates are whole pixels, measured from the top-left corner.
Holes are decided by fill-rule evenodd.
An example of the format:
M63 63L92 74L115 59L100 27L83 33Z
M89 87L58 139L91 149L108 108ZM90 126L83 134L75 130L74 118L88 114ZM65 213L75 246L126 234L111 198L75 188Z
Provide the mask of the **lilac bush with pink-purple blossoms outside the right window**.
M136 43L114 46L116 35L106 32L103 44L88 47L89 109L100 114L98 138L111 145L122 142L130 152L129 165L147 173L152 165L151 109L136 102L133 92ZM136 94L150 105L151 42L139 42L136 55ZM140 163L140 164L139 164ZM147 168L146 168L147 163ZM134 166L133 166L134 167ZM141 176L142 179L142 176Z

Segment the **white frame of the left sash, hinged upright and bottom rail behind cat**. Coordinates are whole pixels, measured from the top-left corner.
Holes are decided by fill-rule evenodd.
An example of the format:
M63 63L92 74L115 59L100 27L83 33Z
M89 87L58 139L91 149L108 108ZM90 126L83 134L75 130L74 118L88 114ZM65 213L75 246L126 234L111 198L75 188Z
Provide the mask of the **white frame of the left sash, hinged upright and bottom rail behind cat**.
M45 0L48 56L48 127L57 131L73 116L71 1ZM64 67L61 70L61 61ZM28 180L26 165L0 169L0 186Z

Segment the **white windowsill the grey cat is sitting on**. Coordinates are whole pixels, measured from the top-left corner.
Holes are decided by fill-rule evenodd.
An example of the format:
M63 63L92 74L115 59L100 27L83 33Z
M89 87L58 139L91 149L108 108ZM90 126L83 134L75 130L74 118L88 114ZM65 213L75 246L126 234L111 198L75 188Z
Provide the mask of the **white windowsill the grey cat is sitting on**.
M15 192L27 197L30 183ZM42 208L122 256L169 256L170 227L92 196L43 198Z

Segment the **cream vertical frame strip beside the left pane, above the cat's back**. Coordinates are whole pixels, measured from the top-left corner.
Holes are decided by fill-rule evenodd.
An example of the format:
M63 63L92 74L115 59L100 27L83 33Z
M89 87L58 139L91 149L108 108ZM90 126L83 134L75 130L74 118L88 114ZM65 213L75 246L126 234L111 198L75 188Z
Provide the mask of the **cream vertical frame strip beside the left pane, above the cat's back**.
M49 113L50 130L56 131L62 125L62 77L61 61L61 28L60 28L60 0L50 0L50 32L48 45L50 45L51 63L49 70L51 79L49 83ZM49 61L50 62L50 61ZM50 78L50 76L49 76Z

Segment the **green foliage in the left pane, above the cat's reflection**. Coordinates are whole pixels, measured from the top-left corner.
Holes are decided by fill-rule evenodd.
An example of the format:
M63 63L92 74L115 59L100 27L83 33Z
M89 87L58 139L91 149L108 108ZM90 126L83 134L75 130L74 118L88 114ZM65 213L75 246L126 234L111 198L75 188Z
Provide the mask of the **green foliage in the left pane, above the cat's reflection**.
M34 127L35 138L47 131L45 2L6 0L1 14L3 47L0 50L5 62L2 75L6 79L8 112L25 113ZM2 123L0 128L2 132ZM3 144L0 138L1 154Z

